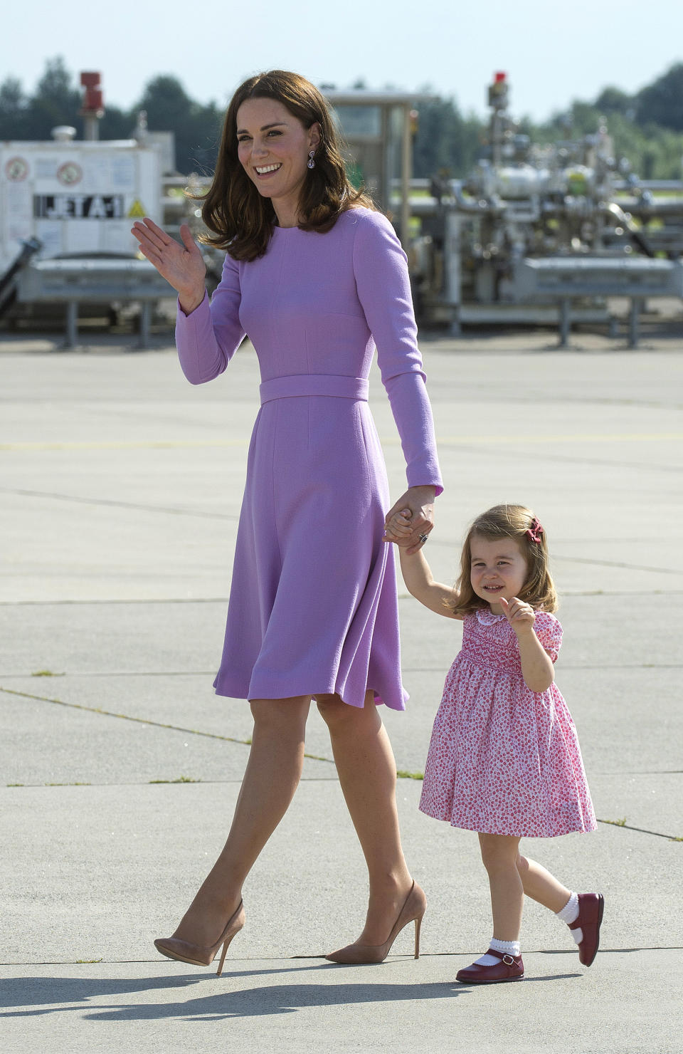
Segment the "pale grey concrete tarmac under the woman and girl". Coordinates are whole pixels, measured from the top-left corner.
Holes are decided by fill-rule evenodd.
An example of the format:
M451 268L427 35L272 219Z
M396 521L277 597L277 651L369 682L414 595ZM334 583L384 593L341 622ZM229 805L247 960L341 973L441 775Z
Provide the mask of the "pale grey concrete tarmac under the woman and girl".
M23 1052L679 1054L683 934L680 643L683 357L591 334L513 332L422 349L446 490L428 543L453 581L468 522L520 501L561 593L557 680L599 829L528 839L605 896L594 965L525 906L521 983L455 981L490 936L476 837L419 813L460 628L400 588L405 714L384 715L422 954L322 958L362 926L361 852L312 708L301 786L244 890L224 975L159 957L229 824L248 705L215 697L258 364L192 388L175 350L0 335L0 1048ZM391 490L398 434L370 404ZM315 529L315 525L312 525Z

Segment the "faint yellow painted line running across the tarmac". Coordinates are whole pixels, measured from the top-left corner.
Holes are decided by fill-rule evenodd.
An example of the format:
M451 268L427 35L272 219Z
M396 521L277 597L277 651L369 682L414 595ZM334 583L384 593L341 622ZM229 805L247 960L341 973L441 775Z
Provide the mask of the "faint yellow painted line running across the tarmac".
M533 435L437 435L437 443L670 443L683 440L683 432L615 432L590 434L561 434L536 432ZM201 447L245 447L249 437L242 440L109 440L102 442L67 443L0 443L0 451L9 450L176 450ZM399 437L383 436L384 446L398 446Z

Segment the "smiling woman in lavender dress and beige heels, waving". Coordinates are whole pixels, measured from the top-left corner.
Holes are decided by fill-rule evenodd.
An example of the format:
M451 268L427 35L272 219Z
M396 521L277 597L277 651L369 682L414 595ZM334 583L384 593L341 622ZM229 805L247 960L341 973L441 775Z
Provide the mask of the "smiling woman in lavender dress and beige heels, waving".
M389 504L367 407L375 350L407 463L409 551L441 491L405 255L349 184L326 103L282 71L236 92L202 207L226 250L209 305L187 227L183 246L145 219L142 253L178 291L176 340L194 384L227 366L248 333L261 369L237 538L219 695L248 699L254 737L227 842L170 938L169 958L209 964L244 919L242 884L301 776L310 701L328 725L369 873L365 928L334 961L385 958L424 914L399 836L396 763L377 710L403 709Z

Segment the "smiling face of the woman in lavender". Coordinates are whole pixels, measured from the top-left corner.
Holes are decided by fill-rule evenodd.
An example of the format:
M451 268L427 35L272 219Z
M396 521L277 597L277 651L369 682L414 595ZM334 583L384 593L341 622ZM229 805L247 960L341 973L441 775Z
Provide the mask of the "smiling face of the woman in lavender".
M296 209L308 172L308 153L320 142L317 124L303 126L277 99L245 99L237 112L238 157L278 215Z

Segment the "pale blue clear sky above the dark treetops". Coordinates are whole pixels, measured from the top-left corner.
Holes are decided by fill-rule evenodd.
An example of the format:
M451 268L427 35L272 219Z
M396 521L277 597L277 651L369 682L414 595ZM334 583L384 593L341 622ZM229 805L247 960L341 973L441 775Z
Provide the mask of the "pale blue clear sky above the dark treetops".
M683 60L683 0L32 0L5 7L0 80L33 90L45 60L102 73L105 103L129 106L155 74L223 104L259 70L316 83L415 91L431 85L465 112L486 113L485 89L508 73L511 110L536 119L606 84L635 92Z

